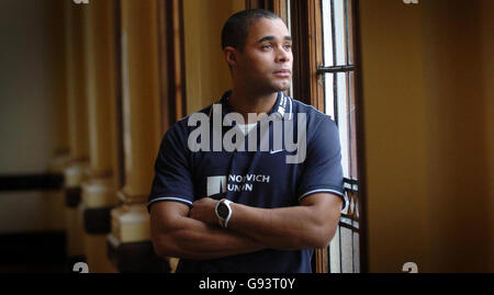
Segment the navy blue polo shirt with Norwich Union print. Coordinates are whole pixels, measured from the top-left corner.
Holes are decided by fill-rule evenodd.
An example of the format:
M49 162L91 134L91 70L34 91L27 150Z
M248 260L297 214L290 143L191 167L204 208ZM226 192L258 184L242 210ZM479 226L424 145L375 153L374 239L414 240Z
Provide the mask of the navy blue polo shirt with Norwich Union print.
M215 149L214 132L226 136L232 128L238 127L235 122L232 123L233 126L213 124L213 118L224 120L229 113L229 91L226 92L214 107L210 105L199 112L203 118L210 118L209 150L198 150L197 145L191 148L191 143L203 143L202 135L195 136L194 140L189 138L194 131L197 135L197 128L201 126L199 123L189 126L191 115L166 133L156 159L148 209L155 202L161 201L192 206L194 201L202 197L225 197L252 207L289 207L300 205L300 201L307 195L322 192L341 196L345 207L338 129L328 115L279 92L277 102L268 114L273 121L265 125L268 129L262 129L258 123L245 137L235 136L240 140L238 143L245 144L244 151L240 148L233 151L225 150L225 147L218 149L217 143ZM221 115L214 116L217 110L221 110ZM299 133L303 129L300 127L303 125L299 125L301 120L306 124L306 133ZM280 126L274 124L280 124L283 129L281 147L280 144L274 144L277 135L273 133L278 131L274 126ZM299 150L287 146L287 131L288 134L293 133L293 139L288 143L297 143ZM252 133L256 133L257 139L255 150L248 146L248 138L254 136ZM303 136L306 138L305 155L302 155L300 147L303 140L296 140L305 139ZM266 150L267 146L269 148ZM295 155L301 159L299 162L287 161L289 156ZM181 259L177 272L308 273L312 271L312 254L313 249L266 249L214 260Z

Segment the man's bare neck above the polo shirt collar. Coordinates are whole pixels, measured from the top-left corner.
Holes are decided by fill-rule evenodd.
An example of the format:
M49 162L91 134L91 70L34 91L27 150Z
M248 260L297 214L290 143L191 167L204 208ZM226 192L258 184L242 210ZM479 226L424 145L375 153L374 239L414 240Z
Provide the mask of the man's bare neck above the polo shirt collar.
M277 99L278 92L254 94L234 89L228 99L228 105L232 112L239 113L244 116L245 124L251 124L256 122L249 122L248 114L268 114L277 103Z

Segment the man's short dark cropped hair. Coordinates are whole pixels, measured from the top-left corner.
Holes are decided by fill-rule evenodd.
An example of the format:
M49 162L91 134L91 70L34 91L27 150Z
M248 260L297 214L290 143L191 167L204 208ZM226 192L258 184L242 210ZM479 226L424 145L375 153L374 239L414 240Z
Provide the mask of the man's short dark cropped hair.
M222 48L225 49L226 46L232 46L242 52L250 26L260 19L281 20L278 14L265 9L249 9L237 12L229 16L223 26Z

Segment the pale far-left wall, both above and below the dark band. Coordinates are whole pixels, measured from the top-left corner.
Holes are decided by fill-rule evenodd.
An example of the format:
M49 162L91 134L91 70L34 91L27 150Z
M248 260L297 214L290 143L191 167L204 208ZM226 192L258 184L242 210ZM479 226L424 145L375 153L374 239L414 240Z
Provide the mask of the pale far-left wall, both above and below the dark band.
M45 173L53 158L54 102L60 95L53 1L0 1L0 174ZM59 15L58 15L59 16ZM63 58L63 57L58 57ZM57 97L58 95L58 97ZM59 228L45 207L63 195L41 192L0 193L0 235ZM63 208L63 207L61 207Z

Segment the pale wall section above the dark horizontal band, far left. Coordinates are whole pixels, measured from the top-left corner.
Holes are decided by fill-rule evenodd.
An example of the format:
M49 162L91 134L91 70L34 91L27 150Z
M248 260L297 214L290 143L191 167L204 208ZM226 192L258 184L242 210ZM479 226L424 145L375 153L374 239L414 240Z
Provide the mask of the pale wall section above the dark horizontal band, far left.
M0 174L43 173L54 149L44 1L0 2Z

